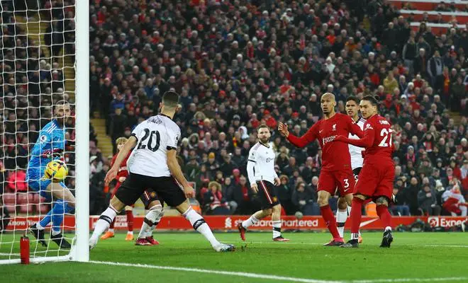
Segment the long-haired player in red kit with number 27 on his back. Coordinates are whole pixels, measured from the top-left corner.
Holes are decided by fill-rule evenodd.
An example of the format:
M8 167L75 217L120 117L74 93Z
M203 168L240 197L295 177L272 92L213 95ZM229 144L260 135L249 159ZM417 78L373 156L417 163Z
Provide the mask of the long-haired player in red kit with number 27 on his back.
M380 246L390 248L393 241L391 235L391 215L389 202L392 198L395 166L391 158L393 146L391 143L391 125L384 117L377 114L378 101L374 96L365 96L361 103L362 117L367 119L364 124L364 137L350 139L338 136L333 144L347 144L364 147L364 166L360 173L360 180L355 188L351 209L351 240L342 248L358 248L359 228L362 217L362 203L372 198L377 204L377 215L385 226L384 236Z

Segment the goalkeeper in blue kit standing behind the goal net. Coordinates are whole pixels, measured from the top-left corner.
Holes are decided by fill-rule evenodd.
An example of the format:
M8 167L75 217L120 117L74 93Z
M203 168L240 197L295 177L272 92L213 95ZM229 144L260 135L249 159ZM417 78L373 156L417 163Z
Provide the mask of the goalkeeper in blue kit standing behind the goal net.
M61 159L65 149L65 119L70 116L70 105L65 100L55 103L52 121L40 129L38 140L28 162L26 181L31 190L39 192L48 202L54 201L52 209L38 223L30 226L28 232L38 239L41 245L47 247L44 229L52 221L50 239L60 248L71 248L63 238L60 226L65 213L74 209L74 196L63 182L54 183L45 178L44 171L52 160Z

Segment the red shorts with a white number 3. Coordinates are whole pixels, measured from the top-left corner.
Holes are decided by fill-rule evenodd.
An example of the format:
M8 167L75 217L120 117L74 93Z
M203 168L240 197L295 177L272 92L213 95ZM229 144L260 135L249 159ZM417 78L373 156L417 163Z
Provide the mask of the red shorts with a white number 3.
M349 171L321 171L318 177L317 190L330 192L335 195L336 190L344 197L355 190L355 175Z

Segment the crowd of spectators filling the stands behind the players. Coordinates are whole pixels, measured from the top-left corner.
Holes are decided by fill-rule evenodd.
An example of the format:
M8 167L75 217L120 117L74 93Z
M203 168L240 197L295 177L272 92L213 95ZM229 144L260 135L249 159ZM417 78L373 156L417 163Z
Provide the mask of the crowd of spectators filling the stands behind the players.
M331 92L338 112L351 95L381 98L380 113L394 125L394 214L466 214L466 28L413 30L380 0L95 0L90 21L91 113L106 118L113 140L129 137L158 112L165 91L180 93L179 156L205 213L258 209L245 165L265 123L286 214L318 214L318 143L296 149L277 124L303 134ZM90 182L102 197L108 160L95 142L91 151Z

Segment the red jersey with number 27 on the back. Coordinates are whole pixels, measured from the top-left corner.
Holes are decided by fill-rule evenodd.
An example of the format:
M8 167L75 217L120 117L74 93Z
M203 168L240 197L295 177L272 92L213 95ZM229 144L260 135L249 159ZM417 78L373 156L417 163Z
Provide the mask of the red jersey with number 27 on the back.
M393 163L393 143L391 142L391 125L381 115L370 117L364 124L362 139L347 139L348 144L364 147L364 163L366 161L390 161Z

